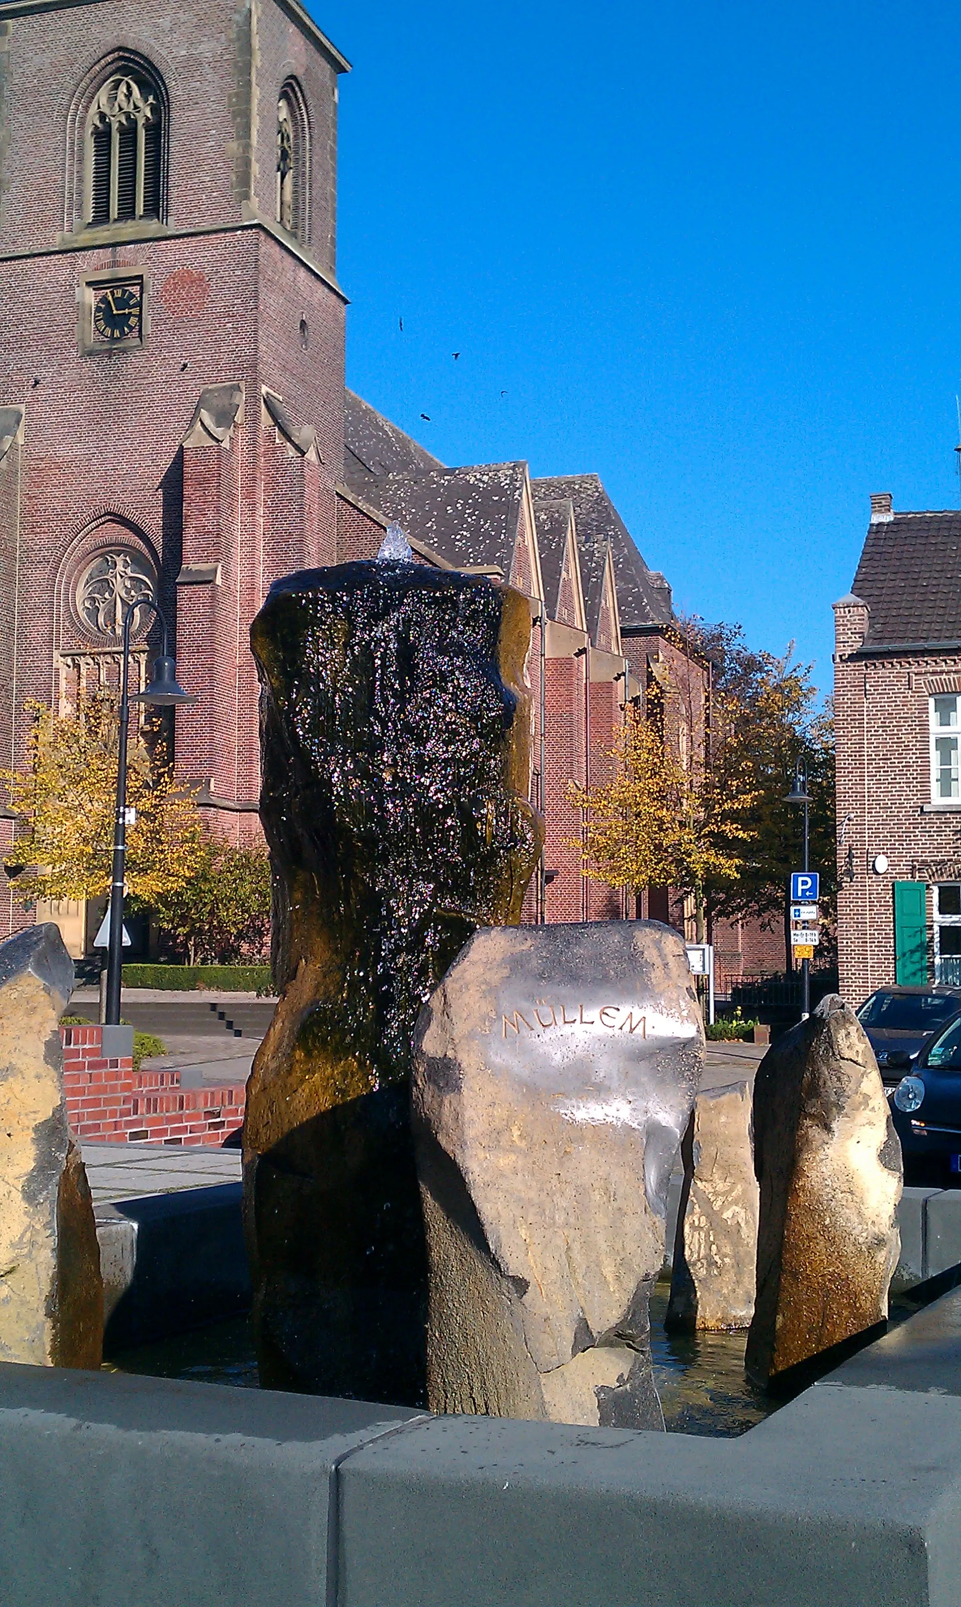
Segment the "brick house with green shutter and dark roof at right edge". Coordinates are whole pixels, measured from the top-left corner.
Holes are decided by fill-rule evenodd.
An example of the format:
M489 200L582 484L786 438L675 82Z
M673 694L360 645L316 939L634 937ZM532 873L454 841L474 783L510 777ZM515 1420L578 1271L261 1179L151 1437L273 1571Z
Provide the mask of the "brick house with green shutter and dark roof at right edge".
M840 992L961 982L961 511L871 497L834 604Z

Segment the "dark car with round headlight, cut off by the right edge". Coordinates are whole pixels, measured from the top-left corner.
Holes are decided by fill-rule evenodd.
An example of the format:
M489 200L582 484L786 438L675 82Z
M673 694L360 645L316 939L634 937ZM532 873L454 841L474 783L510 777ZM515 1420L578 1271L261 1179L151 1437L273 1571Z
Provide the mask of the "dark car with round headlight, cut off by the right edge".
M961 1173L961 1016L924 1045L889 1099L906 1181Z

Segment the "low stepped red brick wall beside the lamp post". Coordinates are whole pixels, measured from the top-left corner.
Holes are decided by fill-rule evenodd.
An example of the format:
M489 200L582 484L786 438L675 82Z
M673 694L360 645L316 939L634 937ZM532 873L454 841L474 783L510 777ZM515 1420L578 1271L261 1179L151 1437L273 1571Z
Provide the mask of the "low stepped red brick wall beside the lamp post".
M243 1083L182 1088L180 1072L104 1059L98 1025L61 1027L67 1117L79 1139L222 1144L244 1117Z

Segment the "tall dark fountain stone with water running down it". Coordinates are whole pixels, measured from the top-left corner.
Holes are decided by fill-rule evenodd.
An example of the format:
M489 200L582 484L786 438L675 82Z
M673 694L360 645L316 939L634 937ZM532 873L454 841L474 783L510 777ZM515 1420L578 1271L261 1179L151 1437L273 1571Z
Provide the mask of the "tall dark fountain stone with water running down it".
M411 1040L476 927L519 919L540 850L530 611L479 575L358 562L275 585L251 641L281 988L244 1122L260 1379L418 1403Z

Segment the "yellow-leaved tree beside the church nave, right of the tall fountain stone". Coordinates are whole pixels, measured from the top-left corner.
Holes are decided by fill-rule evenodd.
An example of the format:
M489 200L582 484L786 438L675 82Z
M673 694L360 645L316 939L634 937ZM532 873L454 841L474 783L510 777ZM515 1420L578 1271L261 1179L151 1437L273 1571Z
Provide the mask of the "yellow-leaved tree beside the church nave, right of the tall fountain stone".
M731 734L707 762L685 765L657 722L633 717L619 734L614 779L572 787L585 810L585 871L611 887L675 887L694 898L697 942L707 892L738 881L759 797L746 744Z

